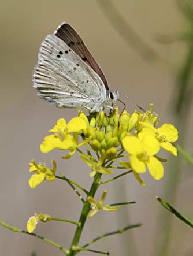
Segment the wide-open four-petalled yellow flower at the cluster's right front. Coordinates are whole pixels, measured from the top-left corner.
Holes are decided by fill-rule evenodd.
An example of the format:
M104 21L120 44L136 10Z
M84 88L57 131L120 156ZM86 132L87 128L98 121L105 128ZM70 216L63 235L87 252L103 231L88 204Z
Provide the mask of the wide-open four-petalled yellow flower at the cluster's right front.
M123 138L122 144L129 153L131 168L136 173L146 172L147 166L154 179L159 180L164 176L164 167L154 157L160 149L160 144L155 136L148 133L140 140L135 136L129 135Z

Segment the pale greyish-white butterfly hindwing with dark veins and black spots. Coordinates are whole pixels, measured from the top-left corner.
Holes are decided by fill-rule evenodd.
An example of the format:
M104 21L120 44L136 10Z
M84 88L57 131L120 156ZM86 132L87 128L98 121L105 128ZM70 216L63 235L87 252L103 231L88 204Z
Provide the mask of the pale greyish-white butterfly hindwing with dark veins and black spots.
M86 106L99 111L106 99L98 74L55 35L42 42L33 84L41 98L58 107Z

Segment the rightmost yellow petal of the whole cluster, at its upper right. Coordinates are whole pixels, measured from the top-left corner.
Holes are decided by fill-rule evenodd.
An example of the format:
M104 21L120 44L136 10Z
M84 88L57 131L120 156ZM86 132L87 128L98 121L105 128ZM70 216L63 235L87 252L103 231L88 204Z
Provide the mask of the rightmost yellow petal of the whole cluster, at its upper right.
M173 124L163 124L158 128L158 132L165 135L168 142L175 142L178 139L178 131Z

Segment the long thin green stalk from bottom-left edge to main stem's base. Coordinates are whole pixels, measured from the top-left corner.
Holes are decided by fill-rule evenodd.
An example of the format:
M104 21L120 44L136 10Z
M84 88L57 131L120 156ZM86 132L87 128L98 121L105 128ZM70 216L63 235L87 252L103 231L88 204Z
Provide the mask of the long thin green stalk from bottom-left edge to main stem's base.
M3 222L3 221L0 221L0 225L2 225L2 226L5 227L5 228L10 229L10 230L13 231L13 232L24 233L24 234L27 234L27 235L30 235L30 236L35 236L36 238L42 239L42 240L46 241L47 243L50 243L51 245L57 247L58 249L60 249L61 251L63 251L66 255L69 254L69 251L66 250L64 247L62 247L60 244L57 244L57 243L51 241L50 239L44 238L43 236L40 236L40 235L38 235L38 234L36 234L36 233L29 233L29 232L27 232L27 231L25 231L25 230L18 229L18 228L16 228L16 227L12 227L12 226L6 224L6 223Z

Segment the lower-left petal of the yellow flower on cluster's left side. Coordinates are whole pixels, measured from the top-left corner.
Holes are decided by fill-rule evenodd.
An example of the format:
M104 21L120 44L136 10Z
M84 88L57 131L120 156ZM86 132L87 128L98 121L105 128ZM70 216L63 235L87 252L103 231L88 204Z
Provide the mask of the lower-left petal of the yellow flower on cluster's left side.
M48 153L55 149L60 142L61 140L54 134L46 136L40 145L40 150L42 153Z

